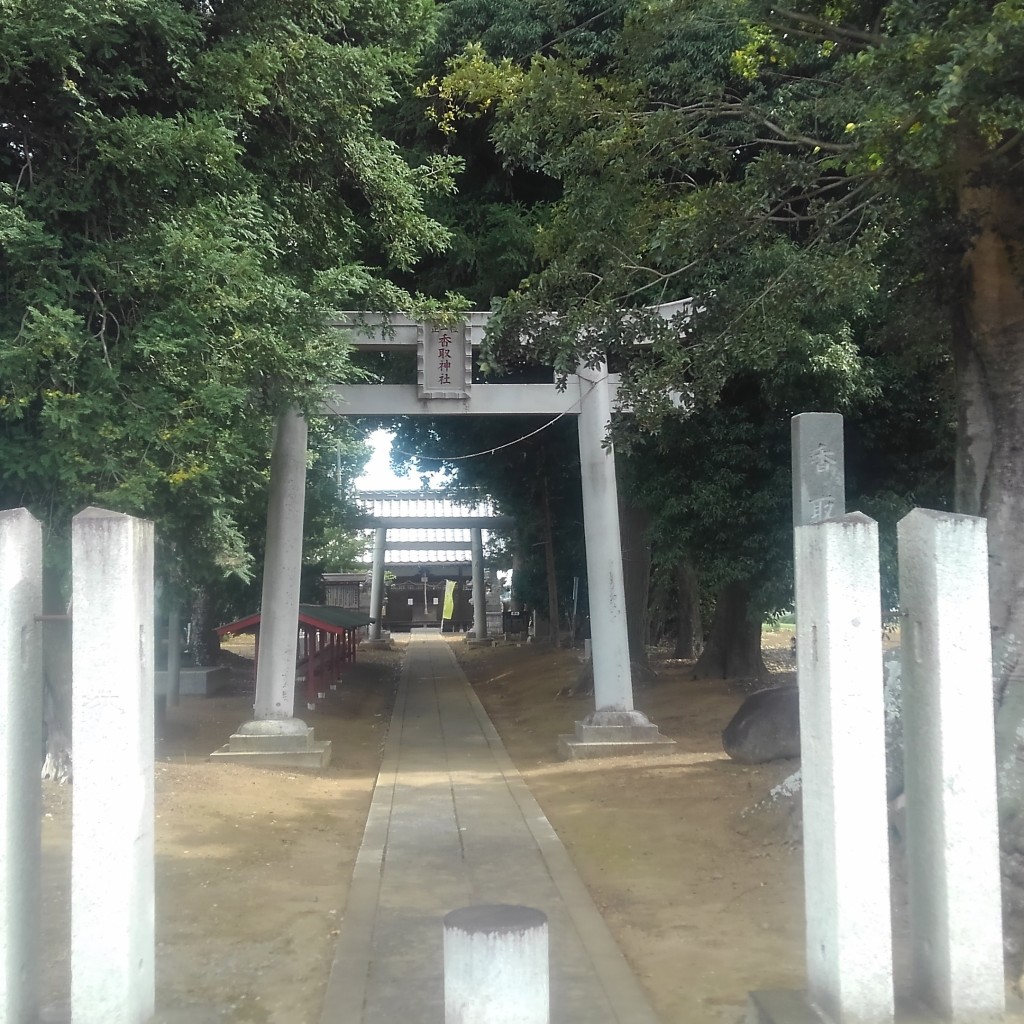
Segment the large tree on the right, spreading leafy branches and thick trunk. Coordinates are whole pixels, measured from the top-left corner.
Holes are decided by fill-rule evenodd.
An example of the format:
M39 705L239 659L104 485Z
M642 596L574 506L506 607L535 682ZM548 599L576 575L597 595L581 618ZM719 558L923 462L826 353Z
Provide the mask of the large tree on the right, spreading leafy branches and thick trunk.
M592 71L479 50L446 95L499 103L493 137L562 186L545 266L505 309L568 367L628 352L638 399L713 396L734 368L855 357L858 319L894 292L954 356L957 508L985 515L1002 810L1021 805L1024 719L1024 56L1017 2L631 5ZM675 326L624 305L698 297ZM558 329L542 331L543 312ZM599 329L583 329L598 325ZM650 401L642 401L652 407Z

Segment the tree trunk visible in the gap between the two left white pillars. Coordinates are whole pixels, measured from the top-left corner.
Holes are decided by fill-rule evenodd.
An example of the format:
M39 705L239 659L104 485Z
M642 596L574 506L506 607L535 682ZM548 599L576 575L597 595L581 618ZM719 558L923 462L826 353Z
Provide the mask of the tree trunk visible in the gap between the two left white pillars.
M69 612L60 581L43 570L43 614ZM71 754L71 622L49 620L43 630L43 778L72 780Z

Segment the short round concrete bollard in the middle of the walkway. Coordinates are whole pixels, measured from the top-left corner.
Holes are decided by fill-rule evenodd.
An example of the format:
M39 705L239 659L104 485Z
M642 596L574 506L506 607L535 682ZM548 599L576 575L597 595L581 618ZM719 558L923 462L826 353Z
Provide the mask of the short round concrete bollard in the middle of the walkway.
M483 904L444 915L444 1024L550 1024L548 916Z

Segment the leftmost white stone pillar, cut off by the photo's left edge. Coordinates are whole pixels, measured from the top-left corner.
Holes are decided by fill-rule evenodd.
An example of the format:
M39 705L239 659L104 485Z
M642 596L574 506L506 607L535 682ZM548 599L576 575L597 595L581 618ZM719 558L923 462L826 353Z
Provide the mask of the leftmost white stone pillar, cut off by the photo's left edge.
M0 512L0 1021L39 1011L42 530Z

